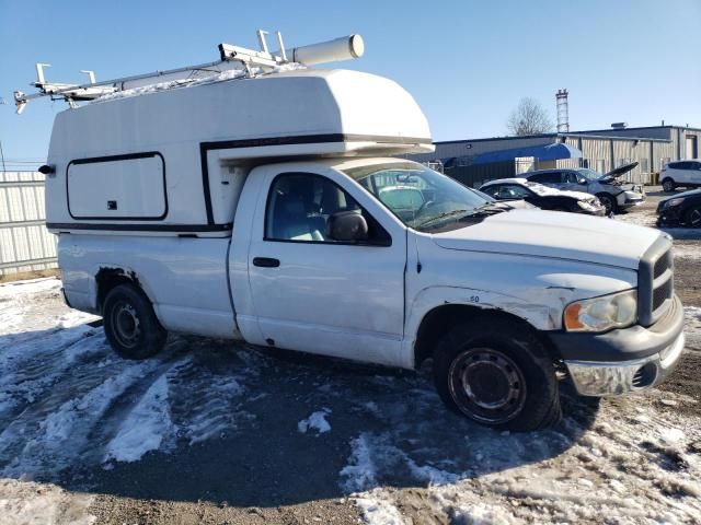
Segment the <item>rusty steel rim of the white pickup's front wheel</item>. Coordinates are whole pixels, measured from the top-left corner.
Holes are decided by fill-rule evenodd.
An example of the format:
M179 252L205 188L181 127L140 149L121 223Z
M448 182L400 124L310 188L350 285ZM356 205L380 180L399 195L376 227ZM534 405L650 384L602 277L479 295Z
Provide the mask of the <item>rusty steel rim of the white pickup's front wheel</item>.
M460 353L450 364L448 382L460 411L483 423L506 423L526 402L522 372L513 359L492 348Z

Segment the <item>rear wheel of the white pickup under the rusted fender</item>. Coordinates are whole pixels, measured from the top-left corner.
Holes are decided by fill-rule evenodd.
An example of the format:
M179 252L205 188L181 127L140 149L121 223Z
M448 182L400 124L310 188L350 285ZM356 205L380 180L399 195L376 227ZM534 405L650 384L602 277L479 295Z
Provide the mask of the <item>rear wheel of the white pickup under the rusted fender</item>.
M168 332L156 317L151 302L134 284L113 288L102 308L105 336L125 359L147 359L165 345Z

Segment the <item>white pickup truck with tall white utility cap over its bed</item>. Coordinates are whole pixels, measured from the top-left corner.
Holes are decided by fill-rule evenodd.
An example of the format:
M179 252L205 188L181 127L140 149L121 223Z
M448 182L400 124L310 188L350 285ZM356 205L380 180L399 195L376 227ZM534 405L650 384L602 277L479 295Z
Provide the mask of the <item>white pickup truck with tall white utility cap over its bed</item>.
M490 200L417 163L414 100L347 70L222 74L57 115L46 179L65 296L143 359L166 331L415 369L512 430L651 387L683 348L671 242Z

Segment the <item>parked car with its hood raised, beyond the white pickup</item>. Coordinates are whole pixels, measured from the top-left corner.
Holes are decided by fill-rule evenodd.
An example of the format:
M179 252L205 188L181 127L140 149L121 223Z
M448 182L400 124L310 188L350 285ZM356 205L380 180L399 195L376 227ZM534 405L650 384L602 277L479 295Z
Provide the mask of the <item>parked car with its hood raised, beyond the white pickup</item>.
M608 213L642 205L645 201L645 189L642 184L622 183L618 178L637 166L631 162L611 170L604 175L586 167L568 167L558 170L539 170L524 173L521 177L535 183L560 189L586 191L595 195Z

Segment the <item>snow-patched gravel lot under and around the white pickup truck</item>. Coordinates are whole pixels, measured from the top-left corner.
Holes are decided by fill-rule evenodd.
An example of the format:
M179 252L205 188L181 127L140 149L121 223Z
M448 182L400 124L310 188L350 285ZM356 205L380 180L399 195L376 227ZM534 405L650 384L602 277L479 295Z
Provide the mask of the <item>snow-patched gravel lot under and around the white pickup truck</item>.
M662 194L619 220L654 223ZM0 524L701 522L701 232L675 236L688 319L659 389L498 433L418 373L171 337L108 349L55 279L0 285ZM96 324L96 323L93 323Z

